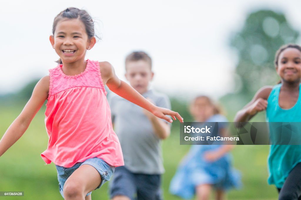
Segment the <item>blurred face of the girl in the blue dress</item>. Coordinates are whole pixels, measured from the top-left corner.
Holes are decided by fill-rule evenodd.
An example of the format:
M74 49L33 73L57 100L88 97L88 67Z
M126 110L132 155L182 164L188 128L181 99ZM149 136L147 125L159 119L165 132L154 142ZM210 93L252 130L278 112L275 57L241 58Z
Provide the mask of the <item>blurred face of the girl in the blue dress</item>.
M194 120L204 122L214 114L214 107L207 98L197 98L190 106L190 113Z

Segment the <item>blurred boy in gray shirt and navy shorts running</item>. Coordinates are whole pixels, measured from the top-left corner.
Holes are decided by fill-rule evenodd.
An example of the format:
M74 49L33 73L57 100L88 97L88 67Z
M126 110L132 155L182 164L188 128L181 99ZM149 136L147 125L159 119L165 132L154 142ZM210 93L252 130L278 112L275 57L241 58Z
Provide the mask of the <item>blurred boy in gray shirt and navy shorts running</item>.
M149 90L154 73L151 58L144 52L126 57L126 79L156 106L170 109L166 95ZM112 123L118 135L124 166L115 169L110 182L113 200L159 200L164 173L161 140L170 134L170 124L117 95L109 99Z

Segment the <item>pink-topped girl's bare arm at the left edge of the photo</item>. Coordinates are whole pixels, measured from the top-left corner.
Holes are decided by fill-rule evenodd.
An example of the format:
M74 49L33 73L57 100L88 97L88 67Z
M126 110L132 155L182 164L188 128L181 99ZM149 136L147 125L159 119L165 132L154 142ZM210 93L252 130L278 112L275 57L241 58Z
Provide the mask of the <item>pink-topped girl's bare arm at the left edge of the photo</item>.
M9 126L0 140L0 156L5 153L26 131L31 120L48 98L49 76L43 77L33 89L33 94L21 114Z

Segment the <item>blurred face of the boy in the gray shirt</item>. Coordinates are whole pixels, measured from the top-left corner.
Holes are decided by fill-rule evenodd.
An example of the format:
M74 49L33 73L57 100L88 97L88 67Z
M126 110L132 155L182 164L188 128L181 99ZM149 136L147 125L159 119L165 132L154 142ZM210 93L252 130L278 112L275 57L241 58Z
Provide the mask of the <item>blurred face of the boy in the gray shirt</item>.
M154 73L147 61L126 62L126 79L130 85L140 94L147 92L148 84L153 79Z

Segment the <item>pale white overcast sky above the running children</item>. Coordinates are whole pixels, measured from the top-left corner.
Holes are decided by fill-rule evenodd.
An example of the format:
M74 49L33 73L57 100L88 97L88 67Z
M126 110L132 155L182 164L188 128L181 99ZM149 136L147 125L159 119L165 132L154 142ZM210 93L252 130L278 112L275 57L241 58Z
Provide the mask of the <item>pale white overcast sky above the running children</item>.
M1 1L0 94L48 75L57 54L48 40L54 17L67 7L87 10L101 35L86 58L109 61L120 79L124 59L144 50L153 59L152 87L169 95L218 98L234 88L231 33L262 8L283 12L301 31L299 0Z

